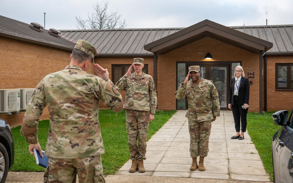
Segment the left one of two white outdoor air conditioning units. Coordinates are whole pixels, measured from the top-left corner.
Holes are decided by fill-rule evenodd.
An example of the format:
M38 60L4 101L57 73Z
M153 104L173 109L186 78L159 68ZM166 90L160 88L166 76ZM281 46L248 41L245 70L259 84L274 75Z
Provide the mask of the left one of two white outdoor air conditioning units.
M20 89L0 89L0 112L20 110Z

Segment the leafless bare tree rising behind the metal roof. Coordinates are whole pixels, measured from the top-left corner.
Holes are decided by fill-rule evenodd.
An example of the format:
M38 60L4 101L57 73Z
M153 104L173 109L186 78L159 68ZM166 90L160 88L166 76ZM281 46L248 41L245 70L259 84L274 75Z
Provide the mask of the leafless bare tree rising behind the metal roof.
M114 29L114 28L125 28L127 24L125 24L125 19L120 21L122 15L116 12L111 12L110 14L107 12L109 2L105 0L103 1L104 6L96 3L93 5L93 12L88 13L88 19L83 20L79 17L75 17L76 19L76 27L78 29Z

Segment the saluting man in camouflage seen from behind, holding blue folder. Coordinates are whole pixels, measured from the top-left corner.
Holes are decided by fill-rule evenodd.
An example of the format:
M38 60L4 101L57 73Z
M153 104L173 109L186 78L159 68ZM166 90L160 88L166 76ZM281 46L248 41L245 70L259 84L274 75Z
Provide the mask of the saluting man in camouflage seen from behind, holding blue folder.
M37 85L23 118L21 134L41 151L38 121L47 106L50 116L44 182L105 182L101 154L105 152L99 124L99 101L109 109L123 110L123 99L110 81L107 69L94 64L97 76L87 73L96 48L78 40L64 70L45 76ZM41 153L40 153L41 154Z

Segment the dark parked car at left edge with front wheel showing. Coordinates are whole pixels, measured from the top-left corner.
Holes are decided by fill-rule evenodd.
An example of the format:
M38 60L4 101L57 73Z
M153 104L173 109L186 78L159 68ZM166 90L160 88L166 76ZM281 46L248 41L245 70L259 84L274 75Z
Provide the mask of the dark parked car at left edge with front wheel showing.
M4 183L14 163L14 140L9 124L0 119L0 183Z

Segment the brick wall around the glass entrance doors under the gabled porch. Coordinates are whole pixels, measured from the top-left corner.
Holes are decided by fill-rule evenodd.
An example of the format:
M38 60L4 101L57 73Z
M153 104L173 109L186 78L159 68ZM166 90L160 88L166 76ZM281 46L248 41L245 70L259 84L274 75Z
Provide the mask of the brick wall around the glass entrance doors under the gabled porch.
M253 80L253 85L250 85L249 111L258 112L259 54L253 54L211 37L205 37L201 40L175 49L169 53L158 56L158 109L176 109L176 98L174 95L175 91L177 90L176 61L204 61L204 57L207 52L212 54L212 61L242 61L242 66L245 73L247 73L247 71L255 71L255 79L251 79Z

